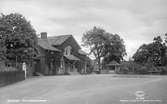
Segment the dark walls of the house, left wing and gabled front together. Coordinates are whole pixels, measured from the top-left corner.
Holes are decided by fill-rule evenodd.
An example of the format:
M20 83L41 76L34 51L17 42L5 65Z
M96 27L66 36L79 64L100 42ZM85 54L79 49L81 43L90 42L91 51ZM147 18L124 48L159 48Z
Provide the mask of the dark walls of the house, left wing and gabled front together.
M61 59L64 55L64 49L67 46L71 46L71 54L80 59L80 61L76 61L75 63L75 68L77 69L77 71L82 72L83 70L85 70L86 56L78 53L80 46L73 37L69 37L63 44L59 46L54 46L62 52L54 52L54 54L51 54L52 51L44 50L43 48L39 47L41 57L36 62L35 71L43 73L45 75L60 74L58 73L60 71L63 71L63 73L74 71L72 66L73 61L67 60L65 58L63 59L65 61L65 69L59 70L61 69Z

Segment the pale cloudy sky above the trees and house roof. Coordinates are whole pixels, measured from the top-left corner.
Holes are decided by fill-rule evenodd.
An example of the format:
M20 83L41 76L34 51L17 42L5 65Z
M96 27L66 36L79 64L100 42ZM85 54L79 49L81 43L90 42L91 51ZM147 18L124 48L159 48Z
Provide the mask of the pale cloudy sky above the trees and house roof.
M20 13L38 34L72 34L80 45L83 33L101 27L120 35L126 58L167 33L167 0L0 0L0 13Z

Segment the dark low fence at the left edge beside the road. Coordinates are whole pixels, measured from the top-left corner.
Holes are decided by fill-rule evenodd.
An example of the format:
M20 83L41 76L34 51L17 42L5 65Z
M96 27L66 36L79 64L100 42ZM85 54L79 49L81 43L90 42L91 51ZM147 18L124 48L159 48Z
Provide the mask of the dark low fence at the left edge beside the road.
M0 72L0 87L24 80L24 71Z

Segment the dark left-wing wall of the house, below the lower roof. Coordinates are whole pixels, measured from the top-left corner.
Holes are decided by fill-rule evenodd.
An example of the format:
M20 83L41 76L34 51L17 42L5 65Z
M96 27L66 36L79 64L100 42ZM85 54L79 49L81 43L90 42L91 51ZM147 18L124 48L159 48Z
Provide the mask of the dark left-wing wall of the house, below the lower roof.
M57 74L60 67L61 53L39 47L41 57L36 61L35 71L45 75Z

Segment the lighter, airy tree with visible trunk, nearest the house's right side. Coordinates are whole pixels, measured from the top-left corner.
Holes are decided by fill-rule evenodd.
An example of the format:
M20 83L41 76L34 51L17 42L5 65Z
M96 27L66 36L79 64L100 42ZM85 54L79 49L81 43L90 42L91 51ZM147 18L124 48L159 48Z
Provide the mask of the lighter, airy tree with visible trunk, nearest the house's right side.
M90 49L90 54L93 53L97 60L99 72L101 72L101 58L105 50L105 34L106 32L104 29L94 27L84 33L82 37L83 46L88 47Z

